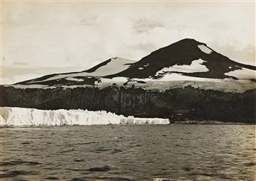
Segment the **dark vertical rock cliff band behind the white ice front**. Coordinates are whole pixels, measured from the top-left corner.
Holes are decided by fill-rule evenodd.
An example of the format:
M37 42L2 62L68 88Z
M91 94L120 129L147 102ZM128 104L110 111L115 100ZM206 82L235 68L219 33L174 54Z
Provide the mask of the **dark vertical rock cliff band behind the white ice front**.
M256 90L223 93L186 87L163 93L140 88L17 89L0 86L0 106L105 110L125 116L171 121L216 120L255 123Z

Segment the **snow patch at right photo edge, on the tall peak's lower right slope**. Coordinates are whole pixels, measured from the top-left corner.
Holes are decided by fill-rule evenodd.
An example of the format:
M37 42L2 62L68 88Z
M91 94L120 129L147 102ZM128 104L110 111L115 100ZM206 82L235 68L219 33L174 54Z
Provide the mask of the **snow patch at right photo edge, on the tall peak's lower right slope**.
M224 73L226 76L234 76L237 79L256 79L256 71L248 68L242 68L240 70L233 70L228 73Z

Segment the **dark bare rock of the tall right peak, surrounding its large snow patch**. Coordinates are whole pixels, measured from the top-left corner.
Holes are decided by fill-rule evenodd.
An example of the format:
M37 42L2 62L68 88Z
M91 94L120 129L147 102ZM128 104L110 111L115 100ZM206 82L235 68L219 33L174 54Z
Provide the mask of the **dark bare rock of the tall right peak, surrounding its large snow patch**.
M251 68L252 66L234 62L228 57L215 52L203 42L198 42L195 39L182 39L167 47L155 50L148 56L140 59L139 62L131 65L127 70L113 76L125 76L130 78L157 77L157 72L163 69L165 69L166 73L176 73L171 70L167 72L166 68L177 65L192 65L192 62L196 60L201 62L200 64L205 66L208 70L205 69L204 72L179 71L179 73L186 76L225 79L230 78L230 76L226 76L225 73L232 70L242 68L255 70L255 68Z

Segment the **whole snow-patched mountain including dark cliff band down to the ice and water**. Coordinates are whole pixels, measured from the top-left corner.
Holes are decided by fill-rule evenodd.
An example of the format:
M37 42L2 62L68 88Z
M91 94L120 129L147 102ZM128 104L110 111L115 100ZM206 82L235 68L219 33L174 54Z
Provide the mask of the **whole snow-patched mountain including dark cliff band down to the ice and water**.
M255 122L256 67L183 39L140 61L112 58L82 72L0 87L0 106L105 110L171 121Z

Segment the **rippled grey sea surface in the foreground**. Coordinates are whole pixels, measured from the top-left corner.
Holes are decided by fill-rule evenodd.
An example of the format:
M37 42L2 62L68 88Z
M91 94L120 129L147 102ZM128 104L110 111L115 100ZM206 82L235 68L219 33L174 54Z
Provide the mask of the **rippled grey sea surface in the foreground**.
M255 128L1 128L0 180L255 180Z

